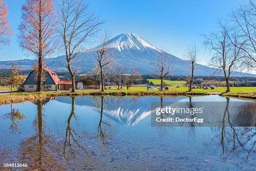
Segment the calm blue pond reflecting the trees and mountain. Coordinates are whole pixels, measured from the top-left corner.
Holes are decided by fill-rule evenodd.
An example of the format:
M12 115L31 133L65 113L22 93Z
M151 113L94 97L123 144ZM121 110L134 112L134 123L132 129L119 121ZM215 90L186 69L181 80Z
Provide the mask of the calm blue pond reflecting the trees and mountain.
M152 102L204 97L56 97L0 106L0 168L13 170L255 170L255 127L152 127ZM0 169L1 170L1 169Z

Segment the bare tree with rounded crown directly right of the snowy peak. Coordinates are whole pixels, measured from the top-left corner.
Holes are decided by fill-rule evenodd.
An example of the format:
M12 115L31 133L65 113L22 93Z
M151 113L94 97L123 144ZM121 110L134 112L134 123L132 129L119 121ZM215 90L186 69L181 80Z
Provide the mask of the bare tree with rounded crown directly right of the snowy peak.
M159 77L161 79L160 91L163 90L164 77L171 72L171 64L172 59L170 58L169 54L165 51L159 52L156 62L153 62L153 68L155 69L155 73L159 74Z

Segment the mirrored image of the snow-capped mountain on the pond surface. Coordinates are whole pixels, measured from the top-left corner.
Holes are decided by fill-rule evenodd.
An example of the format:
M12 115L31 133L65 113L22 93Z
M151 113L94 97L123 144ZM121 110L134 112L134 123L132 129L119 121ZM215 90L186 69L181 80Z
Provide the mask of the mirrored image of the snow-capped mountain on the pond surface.
M171 97L168 101L174 101ZM186 98L186 97L179 97ZM70 97L57 97L59 102L71 104ZM150 116L151 102L160 97L104 97L103 115L124 125L136 125ZM75 105L90 107L100 113L101 97L76 97Z

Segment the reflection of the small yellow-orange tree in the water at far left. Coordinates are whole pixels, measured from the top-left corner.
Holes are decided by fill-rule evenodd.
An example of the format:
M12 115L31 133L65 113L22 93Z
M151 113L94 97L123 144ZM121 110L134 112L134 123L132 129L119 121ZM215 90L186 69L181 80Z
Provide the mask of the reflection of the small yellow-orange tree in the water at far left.
M24 114L21 114L20 111L17 109L13 109L12 104L10 104L11 107L11 112L6 113L3 116L3 119L10 119L11 120L11 125L10 129L12 130L10 133L20 133L18 129L18 122L19 120L26 119L26 116Z

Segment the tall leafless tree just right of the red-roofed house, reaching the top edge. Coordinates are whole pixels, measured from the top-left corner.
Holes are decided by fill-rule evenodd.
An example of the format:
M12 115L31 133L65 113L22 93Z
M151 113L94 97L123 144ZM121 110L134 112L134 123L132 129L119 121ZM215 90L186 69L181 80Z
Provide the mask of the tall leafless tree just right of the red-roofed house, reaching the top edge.
M61 0L59 35L63 40L63 51L67 60L67 69L72 79L72 92L75 92L75 74L71 61L78 59L79 53L84 51L88 38L95 36L102 22L88 9L88 5L81 0Z

